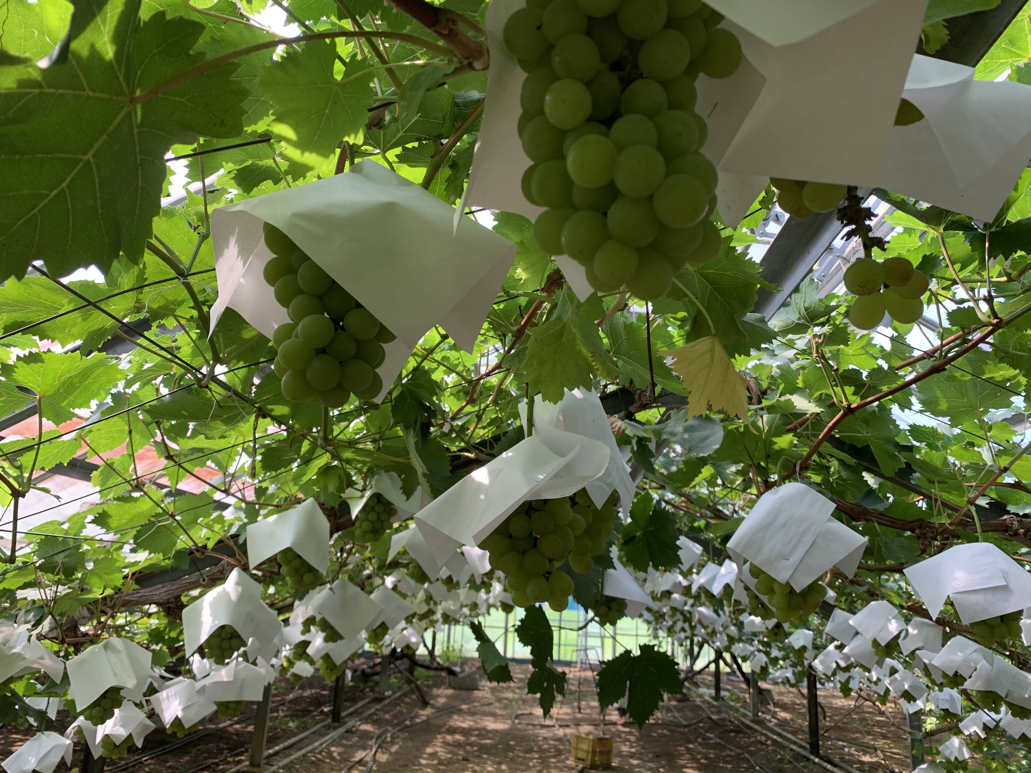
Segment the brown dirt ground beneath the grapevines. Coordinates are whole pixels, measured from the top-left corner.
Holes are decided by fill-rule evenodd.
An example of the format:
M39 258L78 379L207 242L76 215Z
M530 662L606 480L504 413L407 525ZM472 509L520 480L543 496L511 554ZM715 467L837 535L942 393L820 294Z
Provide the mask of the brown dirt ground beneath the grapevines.
M474 665L473 664L470 665ZM619 773L719 773L762 770L766 773L823 769L791 751L784 744L738 725L729 706L714 706L703 700L672 698L660 707L643 730L617 726L614 709L599 718L594 674L587 668L567 670L566 697L559 698L545 720L536 697L526 695L529 666L512 664L510 684L480 682L475 692L450 690L439 674L423 673L423 688L430 706L423 709L408 690L389 702L374 698L354 709L344 722L357 719L348 732L339 734L322 748L284 764L286 758L325 739L335 728L325 725L296 745L270 754L268 765L281 765L284 773L575 773L569 761L570 735L574 732L604 734L614 738L613 767ZM397 694L406 683L397 674L390 680ZM702 678L704 692L711 686ZM740 698L740 681L724 676L724 697L731 705L746 708ZM348 687L344 711L375 695L375 682ZM774 706L764 706L763 721L802 741L806 737L804 695L789 687L773 691ZM268 746L296 737L330 717L332 686L320 677L294 686L286 679L276 682ZM908 771L904 721L900 710L882 708L855 697L821 692L821 706L827 732L823 751L862 773ZM187 736L182 742L156 730L143 748L129 757L106 761L106 773L228 773L246 762L252 739L250 704L242 721L206 735ZM63 732L69 718L61 712L47 730ZM225 720L210 719L202 731ZM31 733L4 728L0 732L0 760L13 751ZM76 744L73 766L79 765L81 750ZM370 753L375 748L374 764ZM59 771L64 769L63 764Z

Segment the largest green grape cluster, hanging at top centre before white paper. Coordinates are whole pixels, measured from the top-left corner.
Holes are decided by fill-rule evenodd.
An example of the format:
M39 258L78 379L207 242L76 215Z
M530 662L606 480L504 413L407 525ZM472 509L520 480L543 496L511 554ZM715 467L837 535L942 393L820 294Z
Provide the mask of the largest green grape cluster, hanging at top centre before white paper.
M505 25L528 73L523 194L546 207L534 238L599 292L656 300L720 250L718 174L694 107L699 73L727 77L741 61L722 21L701 0L528 0Z

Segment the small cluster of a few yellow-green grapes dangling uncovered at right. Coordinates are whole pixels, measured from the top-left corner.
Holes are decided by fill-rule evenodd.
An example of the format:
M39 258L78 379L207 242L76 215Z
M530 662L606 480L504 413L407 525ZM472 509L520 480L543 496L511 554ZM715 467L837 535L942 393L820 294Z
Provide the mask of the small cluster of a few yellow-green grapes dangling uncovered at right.
M844 272L844 289L856 296L849 322L860 330L873 330L888 313L897 323L911 325L924 314L921 299L928 284L927 274L901 256L885 261L861 258Z

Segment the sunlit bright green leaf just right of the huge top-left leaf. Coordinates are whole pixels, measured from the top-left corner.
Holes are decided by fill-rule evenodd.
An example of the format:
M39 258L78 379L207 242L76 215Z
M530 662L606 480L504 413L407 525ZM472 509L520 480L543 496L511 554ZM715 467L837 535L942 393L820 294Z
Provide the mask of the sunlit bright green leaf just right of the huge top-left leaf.
M370 69L351 60L338 81L333 77L336 43L313 40L290 51L265 70L261 88L272 101L272 133L301 154L332 156L341 140L361 142L366 108L372 102Z

